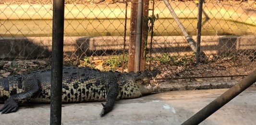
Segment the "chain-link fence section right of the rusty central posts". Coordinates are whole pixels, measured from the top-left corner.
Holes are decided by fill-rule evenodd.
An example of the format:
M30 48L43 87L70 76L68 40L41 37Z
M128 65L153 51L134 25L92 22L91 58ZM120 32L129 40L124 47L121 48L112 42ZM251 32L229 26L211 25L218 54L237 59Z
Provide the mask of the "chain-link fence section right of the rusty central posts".
M196 41L197 0L169 0L187 33ZM162 1L155 2L151 57L163 78L247 75L256 69L255 1L204 0L201 50L207 60L195 64L195 52L171 12ZM158 65L155 65L158 64Z

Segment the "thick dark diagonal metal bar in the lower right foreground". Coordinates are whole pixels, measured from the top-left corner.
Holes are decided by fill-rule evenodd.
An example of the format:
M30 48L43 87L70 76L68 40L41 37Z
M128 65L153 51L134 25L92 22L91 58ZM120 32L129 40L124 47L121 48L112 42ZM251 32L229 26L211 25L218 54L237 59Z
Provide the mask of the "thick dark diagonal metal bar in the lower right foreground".
M256 82L256 70L251 74L246 76L239 83L235 84L228 91L224 92L217 99L210 102L207 106L197 112L195 115L190 117L187 121L185 121L182 125L198 125L202 121L204 121L211 114L215 113L226 103L230 102L233 98L235 98L238 94L243 92L245 89L250 87L252 84Z

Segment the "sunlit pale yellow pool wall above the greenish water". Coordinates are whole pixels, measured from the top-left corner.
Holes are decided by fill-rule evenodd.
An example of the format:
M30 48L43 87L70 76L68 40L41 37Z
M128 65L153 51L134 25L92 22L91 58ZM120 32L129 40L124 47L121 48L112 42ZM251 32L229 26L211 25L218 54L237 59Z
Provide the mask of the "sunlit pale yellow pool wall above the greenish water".
M171 2L175 13L179 18L196 18L198 9L196 4L190 2L177 3ZM156 3L154 13L159 14L159 18L173 18L168 8L163 1ZM127 8L127 17L131 17L131 3ZM13 13L13 10L15 11ZM16 19L52 19L52 5L51 4L0 4L0 20L16 20ZM114 11L114 12L113 12ZM65 19L124 19L125 3L117 4L66 4L65 5ZM204 3L203 11L212 19L225 19L240 23L247 23L256 25L256 13L249 8L242 6L218 4L218 3ZM203 16L204 18L204 16Z

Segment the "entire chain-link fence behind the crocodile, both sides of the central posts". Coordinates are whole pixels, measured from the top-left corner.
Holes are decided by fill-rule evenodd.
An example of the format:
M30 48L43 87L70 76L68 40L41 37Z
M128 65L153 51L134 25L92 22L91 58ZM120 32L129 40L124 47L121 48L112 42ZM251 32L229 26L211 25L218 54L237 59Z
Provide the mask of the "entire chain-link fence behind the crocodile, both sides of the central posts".
M126 6L126 0L66 0L64 66L126 70L135 1L128 0ZM196 42L198 1L168 2L180 24L163 1L155 0L154 6L150 1L149 19L156 18L154 25L149 23L153 30L145 48L146 68L158 68L162 78L171 79L247 75L255 70L255 0L204 1L200 49L207 59L198 64L180 27ZM49 68L51 33L52 0L0 0L0 74Z

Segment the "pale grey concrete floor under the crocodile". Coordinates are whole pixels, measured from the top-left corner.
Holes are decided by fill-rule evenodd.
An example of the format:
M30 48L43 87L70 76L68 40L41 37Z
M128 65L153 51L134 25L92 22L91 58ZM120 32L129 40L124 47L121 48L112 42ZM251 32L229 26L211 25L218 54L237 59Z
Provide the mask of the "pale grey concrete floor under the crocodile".
M100 102L63 104L62 125L180 125L227 89L171 91L117 101L100 117ZM3 104L0 104L2 107ZM49 104L1 114L0 125L49 125ZM200 125L256 125L256 88L249 88Z

